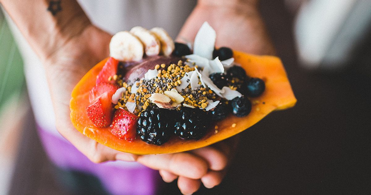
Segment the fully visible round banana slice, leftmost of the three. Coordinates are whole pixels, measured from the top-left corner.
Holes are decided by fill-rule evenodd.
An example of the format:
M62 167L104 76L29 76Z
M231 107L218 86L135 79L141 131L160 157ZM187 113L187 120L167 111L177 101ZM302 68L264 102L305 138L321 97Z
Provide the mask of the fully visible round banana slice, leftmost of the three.
M120 61L140 61L143 52L142 42L128 31L116 33L109 42L109 55Z

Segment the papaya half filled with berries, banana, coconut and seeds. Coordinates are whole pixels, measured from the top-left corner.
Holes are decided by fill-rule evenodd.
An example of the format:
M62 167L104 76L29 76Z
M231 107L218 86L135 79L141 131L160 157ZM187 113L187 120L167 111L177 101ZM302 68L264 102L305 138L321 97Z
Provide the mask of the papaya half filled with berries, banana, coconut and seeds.
M157 40L160 40L157 41L157 45L160 45L160 47L151 46L150 41L142 41L142 39L148 39L145 37L147 34L141 33L143 29L138 29L135 32L136 36L133 36L135 33L125 36L142 37L139 39L141 42L136 40L134 42L136 42L135 44L141 43L143 45L142 51L144 53L148 51L144 59L140 59L140 55L143 54L138 55L137 53L135 53L134 57L125 58L125 60L135 58L137 62L126 61L126 63L119 63L112 57L104 59L86 73L72 91L70 117L73 125L82 134L101 144L122 152L134 154L183 152L227 139L246 130L270 112L292 107L296 103L296 98L293 95L285 69L279 58L275 56L249 55L233 51L233 58L229 58L233 60L227 59L220 63L224 67L218 66L218 58L211 60L211 58L215 57L213 53L218 55L216 54L218 53L217 49L214 50L215 39L211 38L211 41L209 41L212 44L208 44L208 40L204 40L202 46L200 46L199 41L203 33L207 33L210 36L211 27L208 28L207 24L201 27L197 34L198 38L196 36L195 39L193 54L185 56L187 59L174 56L177 53L183 55L184 48L181 51L177 51L177 47L175 47L175 51L171 55L169 51L174 50L174 43L173 49L171 49L171 42L168 39L164 40L164 38L159 37L158 33L155 37ZM158 28L156 30L163 34ZM150 33L150 35L154 34ZM213 34L212 30L211 34ZM166 44L168 48L163 48L162 45ZM113 53L111 46L112 48L116 46L114 46L114 43L110 44L110 50ZM139 45L137 46L140 47ZM184 45L182 46L184 47ZM140 51L140 49L138 50ZM221 51L220 53L228 53L227 49ZM116 52L117 55L122 55L122 53ZM159 58L156 56L159 53L167 57ZM124 55L129 56L125 52ZM122 56L116 56L116 58L120 57ZM177 63L176 61L179 59L183 62ZM149 62L151 62L150 65ZM231 64L240 66L230 66ZM150 87L143 87L147 86L151 79L157 79L158 83L160 83L159 80L164 75L169 75L166 74L166 71L169 71L168 73L171 74L174 73L174 71L171 72L171 65L173 65L174 69L178 65L184 71L189 69L188 73L194 72L195 76L190 76L189 79L197 79L197 82L191 82L185 87L184 85L181 86L182 82L179 82L178 84L168 85L170 87L164 91L157 90L156 93L152 94L146 92L155 90ZM219 70L218 67L223 70ZM237 71L234 69L237 69ZM246 71L246 73L241 74L243 71ZM155 75L153 73L158 74ZM223 84L217 84L218 81L221 81L220 79L214 79L220 78L216 73L222 75L223 79L224 77L229 78L226 79L227 84L224 84L224 87ZM180 77L187 76L185 74L181 74ZM214 74L213 77L211 76L212 74ZM135 75L137 78L131 75ZM206 79L206 77L209 78L208 76L210 77L209 80ZM142 77L143 79L138 79ZM128 78L135 79L129 81ZM232 78L237 78L237 80ZM185 81L185 79L181 81ZM209 81L215 85L210 84ZM136 82L139 84L136 84ZM196 84L197 88L195 88L196 86L191 86ZM137 85L137 88L135 85ZM219 86L216 87L217 85ZM225 87L226 85L229 87ZM185 101L189 97L189 94L186 94L185 91L194 90L204 90L202 92L205 92L203 94L206 95L199 97L199 104L192 105ZM209 90L210 93L207 92ZM228 93L225 91L228 91ZM128 95L126 100L125 95ZM204 101L201 99L204 99ZM132 103L128 104L131 100L133 100ZM141 103L141 100L144 101ZM201 101L207 104L203 105ZM163 104L164 102L166 104ZM102 113L104 115L100 115ZM158 118L152 116L158 116ZM188 126L188 129L185 126ZM189 126L192 126L192 128ZM135 129L137 132L135 132ZM170 131L167 131L167 129Z

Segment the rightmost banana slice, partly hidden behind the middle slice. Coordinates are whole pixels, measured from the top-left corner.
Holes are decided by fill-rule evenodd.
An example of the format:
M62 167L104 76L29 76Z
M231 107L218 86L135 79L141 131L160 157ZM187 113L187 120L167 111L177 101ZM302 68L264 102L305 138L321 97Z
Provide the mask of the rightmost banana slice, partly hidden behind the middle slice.
M154 27L150 30L161 43L161 53L165 56L171 55L175 48L173 39L169 36L169 34L160 27Z

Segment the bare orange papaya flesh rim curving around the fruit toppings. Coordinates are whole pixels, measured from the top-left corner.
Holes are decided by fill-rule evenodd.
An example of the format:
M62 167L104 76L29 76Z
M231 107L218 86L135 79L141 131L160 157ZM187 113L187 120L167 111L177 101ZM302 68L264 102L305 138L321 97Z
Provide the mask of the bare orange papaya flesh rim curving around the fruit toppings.
M272 111L287 109L296 104L295 95L278 57L250 55L239 51L234 51L233 57L235 63L241 65L249 77L263 79L266 89L259 97L250 99L253 104L250 114L245 117L236 117L231 114L216 123L217 130L209 130L209 133L200 140L183 140L173 136L167 143L156 146L147 144L138 137L133 142L120 140L111 134L111 127L95 127L89 120L85 107L89 104L89 91L95 85L96 75L99 74L108 58L95 65L73 89L70 101L70 118L73 126L85 136L122 152L138 155L176 153L227 139L253 126Z

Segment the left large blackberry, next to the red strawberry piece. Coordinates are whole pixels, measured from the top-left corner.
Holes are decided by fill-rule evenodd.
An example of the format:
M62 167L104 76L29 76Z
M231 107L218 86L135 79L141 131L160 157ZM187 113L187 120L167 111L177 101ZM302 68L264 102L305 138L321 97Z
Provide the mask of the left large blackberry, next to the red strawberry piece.
M143 111L138 119L137 134L149 144L160 146L167 142L174 130L175 111L164 108L150 108Z

